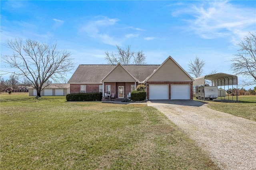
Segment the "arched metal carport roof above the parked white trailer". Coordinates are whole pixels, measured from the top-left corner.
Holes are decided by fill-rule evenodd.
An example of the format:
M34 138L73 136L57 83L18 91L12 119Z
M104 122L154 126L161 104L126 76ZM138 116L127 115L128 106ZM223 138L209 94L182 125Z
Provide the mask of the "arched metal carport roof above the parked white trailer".
M238 84L237 76L220 72L194 78L193 86L204 85L205 80L211 80L214 86L227 86Z

